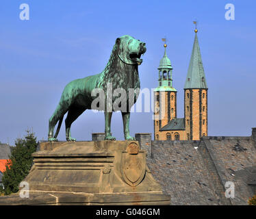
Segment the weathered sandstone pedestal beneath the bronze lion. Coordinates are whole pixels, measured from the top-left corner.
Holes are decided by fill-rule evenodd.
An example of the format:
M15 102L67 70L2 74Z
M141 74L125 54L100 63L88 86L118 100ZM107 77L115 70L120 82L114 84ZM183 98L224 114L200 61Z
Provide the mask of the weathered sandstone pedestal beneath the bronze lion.
M146 166L136 141L40 142L24 179L29 198L0 198L16 205L170 205Z

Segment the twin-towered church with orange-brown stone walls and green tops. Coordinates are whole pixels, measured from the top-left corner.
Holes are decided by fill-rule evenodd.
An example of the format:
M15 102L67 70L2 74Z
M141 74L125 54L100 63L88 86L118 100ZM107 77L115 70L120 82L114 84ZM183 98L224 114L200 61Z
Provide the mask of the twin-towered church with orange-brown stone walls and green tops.
M194 45L184 86L184 118L177 118L177 90L172 86L172 65L166 55L158 67L154 91L155 140L199 140L207 136L207 83L195 29Z

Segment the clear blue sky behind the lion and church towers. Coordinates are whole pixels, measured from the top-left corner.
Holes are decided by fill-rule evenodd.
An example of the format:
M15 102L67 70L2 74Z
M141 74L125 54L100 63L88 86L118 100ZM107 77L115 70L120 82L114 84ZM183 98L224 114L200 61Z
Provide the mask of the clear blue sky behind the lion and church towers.
M29 21L19 19L19 5L29 4ZM225 19L225 5L235 5L235 21ZM250 136L256 127L256 2L251 1L16 1L0 7L0 141L14 140L33 128L47 139L48 120L69 81L100 73L118 36L146 42L139 67L141 88L157 87L157 66L164 55L162 38L178 90L183 117L183 86L198 37L208 90L209 136ZM131 134L153 133L151 113L131 114ZM85 112L71 129L77 140L104 131L103 114ZM112 133L123 139L120 114ZM59 140L64 140L64 124Z

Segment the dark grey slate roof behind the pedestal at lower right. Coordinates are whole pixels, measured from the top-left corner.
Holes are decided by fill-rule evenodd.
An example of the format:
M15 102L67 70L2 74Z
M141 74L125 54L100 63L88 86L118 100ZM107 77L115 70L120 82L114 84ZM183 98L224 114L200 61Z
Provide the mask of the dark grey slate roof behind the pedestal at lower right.
M250 137L209 137L200 141L151 141L136 134L148 152L153 177L171 195L171 205L247 205L256 194L256 128ZM226 198L225 183L235 185Z

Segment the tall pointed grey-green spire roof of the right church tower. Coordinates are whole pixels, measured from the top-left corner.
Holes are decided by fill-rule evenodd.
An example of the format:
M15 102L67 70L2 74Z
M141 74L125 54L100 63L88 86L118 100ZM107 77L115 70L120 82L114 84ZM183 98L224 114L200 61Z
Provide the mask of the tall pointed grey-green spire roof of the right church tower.
M194 30L194 45L190 57L190 66L188 67L188 74L185 80L184 89L190 88L205 88L207 83L205 80L205 71L203 70L203 62L200 53L199 40L197 38L197 29Z

